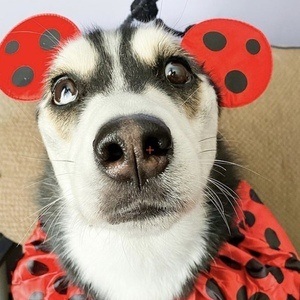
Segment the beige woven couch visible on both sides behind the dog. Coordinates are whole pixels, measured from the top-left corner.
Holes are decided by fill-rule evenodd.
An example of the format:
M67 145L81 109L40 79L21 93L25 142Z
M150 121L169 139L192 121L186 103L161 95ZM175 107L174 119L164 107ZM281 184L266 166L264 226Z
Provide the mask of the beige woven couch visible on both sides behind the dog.
M220 130L243 161L241 171L300 250L300 49L273 49L267 92L224 110ZM0 232L23 242L35 224L34 193L44 160L36 104L0 94Z

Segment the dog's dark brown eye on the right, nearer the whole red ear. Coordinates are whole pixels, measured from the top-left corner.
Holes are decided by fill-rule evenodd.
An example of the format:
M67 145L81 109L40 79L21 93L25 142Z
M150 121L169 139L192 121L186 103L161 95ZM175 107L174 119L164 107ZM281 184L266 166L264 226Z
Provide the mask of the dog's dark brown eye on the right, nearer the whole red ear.
M165 68L165 75L172 84L185 84L192 78L191 73L180 62L169 62Z

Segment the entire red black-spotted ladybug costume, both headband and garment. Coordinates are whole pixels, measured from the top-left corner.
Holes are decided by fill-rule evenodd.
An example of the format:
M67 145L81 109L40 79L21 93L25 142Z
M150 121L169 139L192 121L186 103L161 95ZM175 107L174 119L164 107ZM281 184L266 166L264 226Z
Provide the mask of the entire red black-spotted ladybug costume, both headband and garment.
M157 15L156 0L135 0L131 10L125 22L148 22ZM266 89L272 72L271 49L253 26L213 19L174 33L182 36L182 47L209 74L220 106L251 103ZM43 80L56 51L80 34L71 21L53 14L34 16L16 26L0 45L1 90L23 101L42 98ZM185 300L300 299L300 261L295 248L246 182L240 182L236 193L240 209L231 237L210 269L199 274ZM68 282L46 239L38 224L13 274L14 299L90 299Z

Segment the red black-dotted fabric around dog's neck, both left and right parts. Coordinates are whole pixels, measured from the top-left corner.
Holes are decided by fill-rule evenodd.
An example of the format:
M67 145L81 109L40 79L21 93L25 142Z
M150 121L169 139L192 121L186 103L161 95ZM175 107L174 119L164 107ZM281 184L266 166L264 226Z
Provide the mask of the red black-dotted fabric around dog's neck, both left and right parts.
M232 238L200 273L187 300L300 299L300 261L286 233L246 182L237 189L238 217ZM44 249L38 226L24 246L24 257L13 274L16 300L83 300L65 280L57 257Z

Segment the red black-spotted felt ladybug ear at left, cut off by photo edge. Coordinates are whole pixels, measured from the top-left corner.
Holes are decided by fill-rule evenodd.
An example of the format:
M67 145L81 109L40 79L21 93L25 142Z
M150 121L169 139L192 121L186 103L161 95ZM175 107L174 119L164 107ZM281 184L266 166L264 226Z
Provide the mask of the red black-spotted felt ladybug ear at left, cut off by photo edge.
M41 99L57 49L77 35L75 24L53 14L36 15L14 27L0 45L0 89L13 99Z

